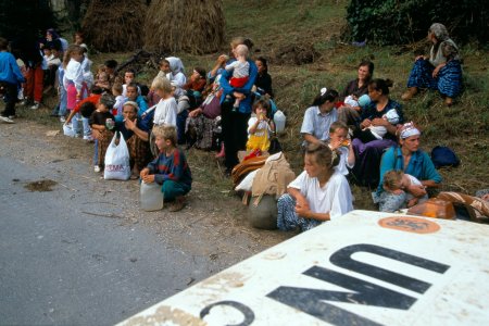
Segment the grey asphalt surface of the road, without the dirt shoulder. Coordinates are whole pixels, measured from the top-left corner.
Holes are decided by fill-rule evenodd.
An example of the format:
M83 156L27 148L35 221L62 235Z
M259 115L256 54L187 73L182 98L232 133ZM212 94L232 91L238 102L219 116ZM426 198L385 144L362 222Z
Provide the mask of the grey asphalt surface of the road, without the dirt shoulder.
M124 212L97 191L71 191L80 180L60 178L54 164L0 152L1 325L111 325L212 273L209 258L148 226L101 216ZM39 179L59 184L25 188Z

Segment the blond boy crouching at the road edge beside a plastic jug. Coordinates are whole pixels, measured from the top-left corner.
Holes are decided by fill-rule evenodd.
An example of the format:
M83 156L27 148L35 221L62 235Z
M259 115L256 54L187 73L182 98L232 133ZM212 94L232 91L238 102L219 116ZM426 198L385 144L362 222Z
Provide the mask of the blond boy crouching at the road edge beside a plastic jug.
M156 126L153 128L153 135L159 154L141 171L140 176L145 183L162 185L164 200L174 200L170 211L177 212L185 206L185 195L191 189L190 167L184 152L176 147L175 126Z

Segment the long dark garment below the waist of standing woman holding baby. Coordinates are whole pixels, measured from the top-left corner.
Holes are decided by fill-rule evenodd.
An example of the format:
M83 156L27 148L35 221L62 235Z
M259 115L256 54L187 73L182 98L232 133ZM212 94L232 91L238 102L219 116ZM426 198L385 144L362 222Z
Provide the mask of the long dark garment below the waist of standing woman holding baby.
M234 112L230 101L225 101L221 105L225 165L228 170L239 163L238 151L246 149L250 115L250 113Z

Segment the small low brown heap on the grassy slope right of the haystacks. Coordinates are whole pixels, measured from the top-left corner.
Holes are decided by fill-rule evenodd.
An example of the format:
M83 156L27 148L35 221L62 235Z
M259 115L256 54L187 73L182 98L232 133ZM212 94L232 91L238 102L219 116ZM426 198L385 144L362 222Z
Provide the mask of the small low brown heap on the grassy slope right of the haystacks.
M312 42L294 42L272 51L275 64L308 64L316 61L321 54L314 49Z

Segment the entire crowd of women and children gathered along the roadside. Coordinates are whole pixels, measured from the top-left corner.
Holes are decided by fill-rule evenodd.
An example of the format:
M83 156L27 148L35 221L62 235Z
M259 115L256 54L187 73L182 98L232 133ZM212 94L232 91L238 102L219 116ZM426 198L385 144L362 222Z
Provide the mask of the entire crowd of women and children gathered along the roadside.
M456 45L441 24L428 30L429 55L416 58L402 100L419 89L437 89L447 105L461 91L462 70ZM216 149L229 175L240 163L239 151L262 154L275 135L274 91L265 58L252 60L253 43L242 37L230 42L209 72L192 67L186 76L179 58L162 58L150 87L135 71L116 74L108 60L92 73L83 34L72 45L48 29L37 55L9 53L0 39L0 83L5 110L0 118L14 123L22 99L37 110L42 93L58 86L52 114L66 135L93 141L93 171L104 168L106 148L120 131L130 156L134 178L162 185L172 211L185 205L192 176L184 149ZM278 200L280 229L310 229L353 209L349 183L376 189L379 210L393 212L427 199L441 176L419 149L421 129L390 98L392 82L374 78L374 63L362 61L358 77L339 93L324 87L305 110L300 134L304 171ZM299 130L298 130L299 131Z

